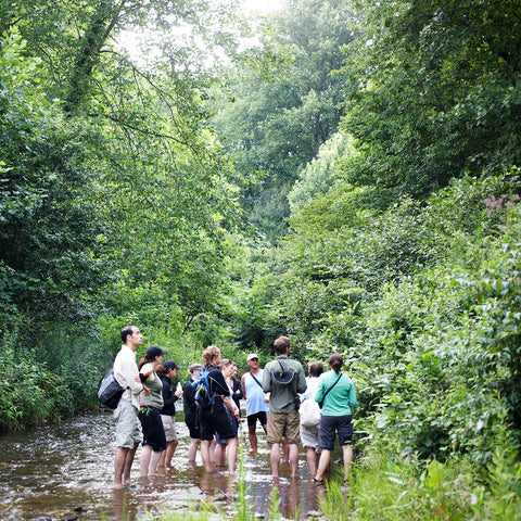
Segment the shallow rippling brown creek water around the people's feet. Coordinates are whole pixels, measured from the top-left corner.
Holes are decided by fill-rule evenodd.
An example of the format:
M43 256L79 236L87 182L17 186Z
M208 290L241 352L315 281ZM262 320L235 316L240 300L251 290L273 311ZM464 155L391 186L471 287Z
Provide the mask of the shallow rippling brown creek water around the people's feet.
M176 423L179 445L171 468L140 481L138 448L132 485L123 491L113 488L116 446L112 412L93 411L0 436L0 519L132 521L145 512L180 510L201 501L231 511L237 482L230 481L227 472L204 472L199 453L196 463L189 465L190 437L181 411L176 415ZM240 458L251 508L269 519L270 496L277 486L278 510L283 517L305 519L310 511L317 511L323 488L309 481L303 450L298 479L291 480L289 466L282 463L278 483L272 483L264 431L257 430L258 453L252 456L246 429L242 421Z

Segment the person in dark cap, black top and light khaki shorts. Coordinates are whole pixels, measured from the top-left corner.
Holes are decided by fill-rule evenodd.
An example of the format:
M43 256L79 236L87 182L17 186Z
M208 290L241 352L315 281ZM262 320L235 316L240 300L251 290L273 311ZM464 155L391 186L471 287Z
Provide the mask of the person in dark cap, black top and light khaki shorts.
M179 441L176 430L176 402L182 396L182 389L174 392L171 380L177 377L179 366L174 360L165 360L158 365L156 372L163 383L163 408L160 410L166 437L166 450L161 453L160 467L170 467L171 458Z

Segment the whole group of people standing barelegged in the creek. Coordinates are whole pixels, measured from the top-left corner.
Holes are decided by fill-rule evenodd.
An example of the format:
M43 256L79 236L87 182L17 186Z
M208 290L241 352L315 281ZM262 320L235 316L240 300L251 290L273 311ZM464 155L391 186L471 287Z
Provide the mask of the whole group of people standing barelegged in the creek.
M221 359L220 350L211 345L203 352L202 364L190 366L190 380L185 389L178 384L174 391L171 381L176 379L179 366L174 360L164 360L167 352L156 345L151 346L137 363L136 352L143 336L136 326L122 330L122 348L114 360L115 379L125 390L114 410L116 488L130 484L130 470L140 443L141 478L154 475L160 466L170 466L178 445L175 403L181 397L191 439L188 449L190 463L195 462L200 447L205 471L215 472L227 466L230 475L234 474L239 453L240 403L244 399L252 454L257 453L258 422L270 447L272 478L279 476L281 449L290 465L291 476L296 478L298 444L302 443L310 479L317 484L323 483L338 435L343 450L344 482L347 482L353 460L352 408L357 402L353 381L341 372L341 355L329 357L331 370L327 372L321 363L309 364L306 378L302 364L290 358L290 339L280 336L274 343L277 358L260 369L258 355L251 353L246 358L250 370L239 380L236 378L237 364ZM195 383L200 371L207 374L209 403L200 404L196 399ZM304 403L305 407L303 405ZM312 409L316 410L308 412Z

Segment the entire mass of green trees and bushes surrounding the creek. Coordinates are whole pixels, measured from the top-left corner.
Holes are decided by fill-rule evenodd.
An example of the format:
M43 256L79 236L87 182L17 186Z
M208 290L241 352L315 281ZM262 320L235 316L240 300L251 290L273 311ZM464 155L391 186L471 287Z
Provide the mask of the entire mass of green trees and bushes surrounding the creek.
M391 469L519 513L519 2L236 14L0 5L0 428L92 405L126 323L187 367L287 333L344 356Z

